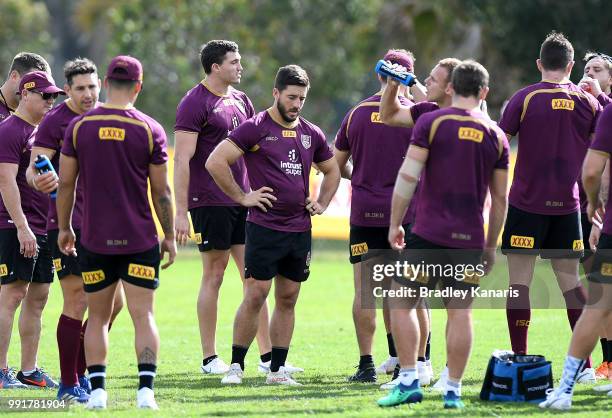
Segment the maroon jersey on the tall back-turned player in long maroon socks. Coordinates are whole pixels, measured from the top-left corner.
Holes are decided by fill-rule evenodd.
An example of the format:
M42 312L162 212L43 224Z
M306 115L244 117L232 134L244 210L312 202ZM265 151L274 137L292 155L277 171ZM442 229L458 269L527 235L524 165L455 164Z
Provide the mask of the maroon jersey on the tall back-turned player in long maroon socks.
M518 135L509 202L541 215L579 209L582 162L601 106L571 82L542 81L512 96L499 126Z

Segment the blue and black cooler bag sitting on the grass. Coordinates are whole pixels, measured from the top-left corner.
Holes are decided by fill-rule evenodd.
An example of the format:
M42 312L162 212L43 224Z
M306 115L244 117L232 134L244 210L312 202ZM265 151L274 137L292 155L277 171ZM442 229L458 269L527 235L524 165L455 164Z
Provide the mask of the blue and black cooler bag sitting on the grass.
M550 361L539 355L495 351L489 360L480 391L483 401L541 402L552 389Z

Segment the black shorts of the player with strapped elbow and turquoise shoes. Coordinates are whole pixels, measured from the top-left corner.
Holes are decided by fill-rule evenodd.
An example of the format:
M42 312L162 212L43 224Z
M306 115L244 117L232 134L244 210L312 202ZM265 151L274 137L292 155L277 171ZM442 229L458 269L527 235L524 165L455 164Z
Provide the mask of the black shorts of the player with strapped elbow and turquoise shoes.
M444 247L409 233L405 239L406 249L402 259L413 266L425 266L426 273L411 277L412 285L435 289L439 283L445 288L465 290L477 287L482 277L478 266L482 266L482 250L466 250ZM482 269L482 267L481 267Z

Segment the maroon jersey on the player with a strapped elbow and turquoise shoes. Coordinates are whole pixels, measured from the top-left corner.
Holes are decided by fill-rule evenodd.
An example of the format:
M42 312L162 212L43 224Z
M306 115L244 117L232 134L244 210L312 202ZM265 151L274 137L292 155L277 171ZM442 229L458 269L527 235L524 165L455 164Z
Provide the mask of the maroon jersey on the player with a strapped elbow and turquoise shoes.
M429 157L419 182L412 232L449 248L482 249L482 216L496 169L508 169L508 140L479 110L446 108L421 116L411 145Z

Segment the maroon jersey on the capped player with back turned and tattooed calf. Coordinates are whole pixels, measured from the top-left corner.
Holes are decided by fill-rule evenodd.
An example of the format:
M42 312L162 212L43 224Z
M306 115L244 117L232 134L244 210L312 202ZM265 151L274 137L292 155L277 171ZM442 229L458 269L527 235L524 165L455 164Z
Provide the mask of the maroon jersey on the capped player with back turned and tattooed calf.
M147 196L149 164L168 160L166 133L139 110L101 105L72 120L62 154L79 163L81 243L100 254L132 254L158 242Z

